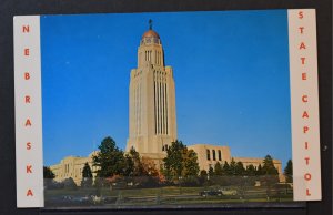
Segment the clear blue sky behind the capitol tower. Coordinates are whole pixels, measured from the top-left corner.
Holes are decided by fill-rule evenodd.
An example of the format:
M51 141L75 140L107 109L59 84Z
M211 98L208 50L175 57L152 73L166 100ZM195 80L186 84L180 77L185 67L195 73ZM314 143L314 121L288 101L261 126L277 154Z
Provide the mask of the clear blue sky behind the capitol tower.
M291 158L286 10L41 17L44 164L125 147L130 70L148 20L173 66L178 137Z

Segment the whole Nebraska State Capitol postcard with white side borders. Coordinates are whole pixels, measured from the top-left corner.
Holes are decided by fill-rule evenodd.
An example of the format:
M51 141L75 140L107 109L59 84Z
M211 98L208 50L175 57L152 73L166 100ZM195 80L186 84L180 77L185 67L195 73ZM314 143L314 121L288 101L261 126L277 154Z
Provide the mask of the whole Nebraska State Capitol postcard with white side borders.
M314 9L13 19L18 207L321 199Z

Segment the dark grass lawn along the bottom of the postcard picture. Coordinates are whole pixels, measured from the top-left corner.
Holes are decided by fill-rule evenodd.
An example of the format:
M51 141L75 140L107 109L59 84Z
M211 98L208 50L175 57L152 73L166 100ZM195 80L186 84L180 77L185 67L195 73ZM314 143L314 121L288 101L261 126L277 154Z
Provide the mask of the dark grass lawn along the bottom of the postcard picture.
M212 187L210 187L212 188ZM199 192L209 190L209 187L180 187L164 186L154 188L122 188L115 190L103 187L101 195L111 197L113 202L105 203L107 206L150 206L150 205L193 205L193 204L223 204L223 203L264 203L264 202L292 202L292 194L276 194L266 198L265 187L244 187L243 195L231 195L238 187L223 187L226 195L202 197ZM228 195L228 192L230 195ZM53 199L62 196L82 197L94 195L95 188L78 188L78 190L47 190L46 201L52 204ZM63 203L63 202L62 202ZM60 203L59 203L60 204ZM70 204L70 203L69 203ZM61 206L61 204L59 205ZM68 205L67 205L68 206ZM89 205L87 205L89 206Z

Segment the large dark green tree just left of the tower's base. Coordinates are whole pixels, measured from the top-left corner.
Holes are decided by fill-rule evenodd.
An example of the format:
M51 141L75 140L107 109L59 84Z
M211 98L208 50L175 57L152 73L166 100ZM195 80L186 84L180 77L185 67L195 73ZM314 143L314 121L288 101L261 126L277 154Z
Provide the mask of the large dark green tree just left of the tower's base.
M123 152L119 150L115 142L110 136L105 137L99 152L93 155L93 165L99 166L97 171L98 177L112 177L113 175L122 175L127 170L127 162Z

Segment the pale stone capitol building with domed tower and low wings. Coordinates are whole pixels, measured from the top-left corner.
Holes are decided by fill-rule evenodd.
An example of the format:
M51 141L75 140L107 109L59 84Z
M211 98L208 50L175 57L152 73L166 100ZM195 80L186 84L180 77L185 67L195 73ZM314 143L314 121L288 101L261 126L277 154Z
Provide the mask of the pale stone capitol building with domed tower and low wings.
M176 71L175 71L176 72ZM138 48L138 66L131 70L129 86L129 137L125 152L131 147L143 157L150 157L157 166L163 165L167 149L178 139L176 104L173 69L165 65L164 50L160 35L150 28L140 40ZM229 146L209 143L186 143L188 149L198 155L200 170L209 171L219 162L242 162L249 165L263 165L263 157L235 157ZM82 170L89 163L92 171L91 153L87 157L68 156L59 164L50 166L56 181L72 177L80 185ZM284 181L282 163L273 160L280 181ZM158 167L159 170L159 167Z

